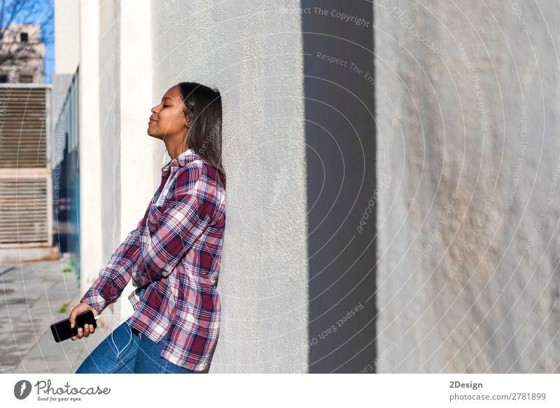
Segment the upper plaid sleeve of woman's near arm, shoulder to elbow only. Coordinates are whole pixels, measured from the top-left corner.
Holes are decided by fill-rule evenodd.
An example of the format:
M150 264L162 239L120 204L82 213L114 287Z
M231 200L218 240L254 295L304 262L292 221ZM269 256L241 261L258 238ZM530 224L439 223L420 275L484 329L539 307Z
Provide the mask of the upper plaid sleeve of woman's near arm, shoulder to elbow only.
M169 276L214 219L216 187L203 169L200 162L180 168L167 205L155 208L157 223L146 222L139 229L140 247L132 266L134 286L144 287Z

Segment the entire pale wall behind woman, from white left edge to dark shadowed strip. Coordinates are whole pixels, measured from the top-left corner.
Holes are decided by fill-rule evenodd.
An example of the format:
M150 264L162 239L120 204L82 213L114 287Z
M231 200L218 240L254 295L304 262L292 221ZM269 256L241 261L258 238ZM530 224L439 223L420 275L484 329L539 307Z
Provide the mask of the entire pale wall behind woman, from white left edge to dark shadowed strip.
M146 134L151 107L179 81L216 86L223 95L228 226L218 285L222 331L210 371L305 372L300 17L266 13L250 1L80 7L82 290L144 214L168 160L165 145ZM132 312L130 290L109 325Z

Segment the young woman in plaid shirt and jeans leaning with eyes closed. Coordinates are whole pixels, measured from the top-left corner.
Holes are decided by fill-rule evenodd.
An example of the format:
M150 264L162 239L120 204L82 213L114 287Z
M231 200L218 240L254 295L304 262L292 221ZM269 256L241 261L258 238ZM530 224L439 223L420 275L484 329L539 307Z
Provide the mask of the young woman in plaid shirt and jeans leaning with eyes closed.
M152 109L148 135L172 160L137 229L72 309L70 322L99 315L132 279L134 313L106 336L76 373L192 373L209 367L218 340L216 291L225 229L218 90L181 82ZM131 180L131 182L134 182ZM81 339L92 325L78 328Z

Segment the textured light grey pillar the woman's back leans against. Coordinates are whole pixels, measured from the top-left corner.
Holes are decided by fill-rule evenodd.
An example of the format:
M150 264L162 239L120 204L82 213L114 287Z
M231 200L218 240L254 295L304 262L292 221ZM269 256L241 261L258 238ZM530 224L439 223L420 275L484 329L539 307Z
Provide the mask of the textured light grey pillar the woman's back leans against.
M152 8L154 100L179 81L216 86L223 100L228 220L218 284L222 326L210 372L304 372L300 16L249 0L219 7L154 1Z

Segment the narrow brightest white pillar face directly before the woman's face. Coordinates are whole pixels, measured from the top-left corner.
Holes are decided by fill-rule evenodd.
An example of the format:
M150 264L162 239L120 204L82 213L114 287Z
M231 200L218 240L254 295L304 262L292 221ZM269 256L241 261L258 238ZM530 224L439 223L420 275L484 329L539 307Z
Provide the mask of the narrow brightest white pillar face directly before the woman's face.
M148 136L152 93L151 6L149 0L120 1L120 235L136 228L158 188L162 154ZM158 154L161 153L161 154ZM159 160L158 160L159 156ZM132 314L129 283L118 301L123 317Z

